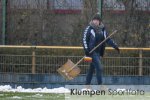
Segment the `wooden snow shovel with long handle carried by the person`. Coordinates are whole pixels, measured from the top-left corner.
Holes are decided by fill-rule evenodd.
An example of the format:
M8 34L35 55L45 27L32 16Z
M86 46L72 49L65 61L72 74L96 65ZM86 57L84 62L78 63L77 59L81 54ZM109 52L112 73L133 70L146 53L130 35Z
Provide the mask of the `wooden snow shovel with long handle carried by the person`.
M99 43L96 47L94 47L89 53L92 53L97 47L99 47L101 44L103 44L108 38L110 38L112 35L114 35L117 32L117 30L113 31L105 40L103 40L101 43ZM78 76L81 72L81 69L77 66L84 58L83 56L76 64L74 64L70 59L62 65L60 68L58 68L58 73L61 74L66 80L72 80L76 76Z

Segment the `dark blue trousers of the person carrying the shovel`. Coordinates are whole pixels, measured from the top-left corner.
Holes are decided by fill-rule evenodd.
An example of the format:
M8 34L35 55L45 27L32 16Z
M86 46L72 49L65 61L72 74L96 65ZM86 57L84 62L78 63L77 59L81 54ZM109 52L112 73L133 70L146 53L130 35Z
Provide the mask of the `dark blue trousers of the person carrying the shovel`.
M92 57L92 62L90 64L90 68L86 76L86 85L91 84L94 71L96 72L98 85L101 85L102 84L102 65L100 62L100 55L99 53L93 52L91 57Z

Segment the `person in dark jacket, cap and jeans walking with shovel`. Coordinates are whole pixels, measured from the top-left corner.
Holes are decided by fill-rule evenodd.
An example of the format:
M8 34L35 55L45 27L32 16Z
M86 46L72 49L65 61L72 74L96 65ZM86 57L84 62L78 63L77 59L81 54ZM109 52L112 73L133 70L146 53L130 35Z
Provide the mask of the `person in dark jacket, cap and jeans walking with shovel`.
M96 72L98 85L102 84L102 65L100 58L104 55L106 43L120 52L117 44L111 38L108 38L102 45L90 53L95 46L97 46L107 37L108 33L102 23L100 15L96 14L84 30L82 39L85 55L92 57L92 62L90 63L90 68L86 76L86 85L91 84L94 70Z

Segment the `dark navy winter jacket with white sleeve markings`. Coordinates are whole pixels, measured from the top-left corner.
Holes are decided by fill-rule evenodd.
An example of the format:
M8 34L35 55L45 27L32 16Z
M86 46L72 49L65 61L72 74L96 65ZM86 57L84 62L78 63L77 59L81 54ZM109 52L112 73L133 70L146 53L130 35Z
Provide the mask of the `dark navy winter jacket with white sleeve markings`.
M89 52L107 37L108 33L106 32L103 24L100 25L100 27L95 27L90 23L86 27L82 39L86 56L90 56ZM117 44L111 38L108 38L107 41L100 45L94 52L97 52L100 54L100 56L103 56L106 43L118 50Z

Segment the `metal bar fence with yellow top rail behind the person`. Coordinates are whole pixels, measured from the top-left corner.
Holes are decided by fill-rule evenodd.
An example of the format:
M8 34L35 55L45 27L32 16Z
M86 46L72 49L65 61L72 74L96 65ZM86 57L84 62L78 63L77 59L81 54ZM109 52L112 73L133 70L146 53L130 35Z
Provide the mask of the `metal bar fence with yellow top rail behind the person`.
M107 48L102 58L104 76L150 75L149 48L120 48L117 54ZM0 46L0 73L58 74L67 59L76 63L82 56L81 47ZM86 74L89 63L78 65Z

